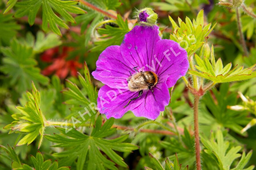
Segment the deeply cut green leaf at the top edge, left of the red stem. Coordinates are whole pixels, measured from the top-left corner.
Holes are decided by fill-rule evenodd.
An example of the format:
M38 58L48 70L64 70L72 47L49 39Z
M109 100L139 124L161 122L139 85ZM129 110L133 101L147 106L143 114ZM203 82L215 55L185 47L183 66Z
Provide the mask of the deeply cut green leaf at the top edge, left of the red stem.
M42 6L43 11L43 30L46 31L48 24L50 29L58 35L61 32L57 26L68 29L69 27L65 22L57 16L54 12L56 11L60 16L62 16L66 21L75 22L74 18L68 13L72 12L75 14L84 14L85 11L76 7L75 5L78 1L63 1L63 0L24 0L17 2L15 7L17 11L15 12L15 17L22 17L28 15L28 23L33 25L35 22L36 14L40 7Z

